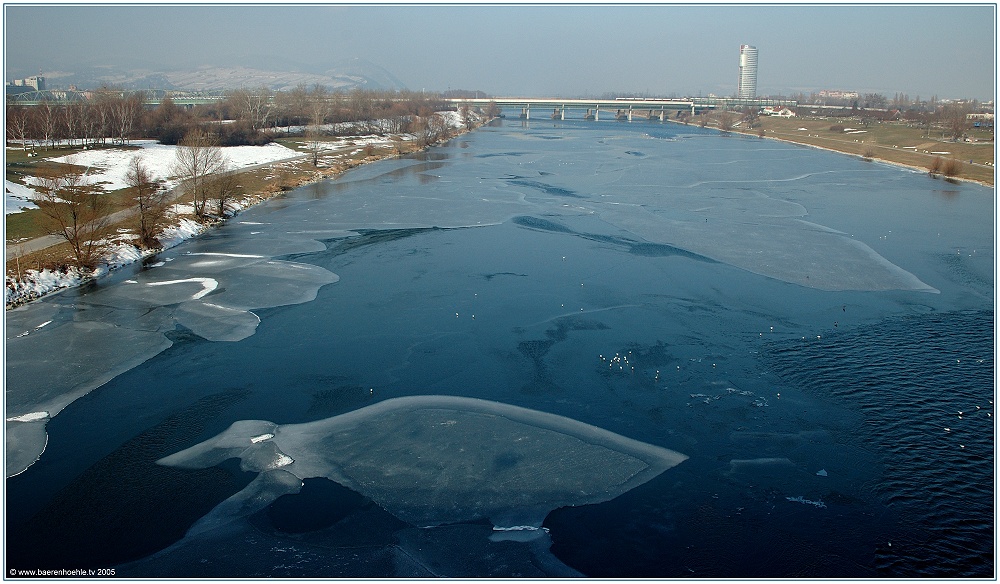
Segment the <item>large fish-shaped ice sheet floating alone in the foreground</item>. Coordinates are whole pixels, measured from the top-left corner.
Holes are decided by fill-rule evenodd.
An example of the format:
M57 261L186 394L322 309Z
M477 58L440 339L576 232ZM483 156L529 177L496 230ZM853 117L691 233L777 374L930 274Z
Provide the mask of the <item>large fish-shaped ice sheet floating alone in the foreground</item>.
M263 434L274 437L255 443ZM160 464L326 477L416 526L489 519L540 536L557 507L610 500L687 457L569 418L471 398L396 398L304 424L236 422ZM287 464L278 464L287 462ZM284 487L282 487L283 489ZM274 500L256 487L224 503ZM214 512L213 512L214 513Z

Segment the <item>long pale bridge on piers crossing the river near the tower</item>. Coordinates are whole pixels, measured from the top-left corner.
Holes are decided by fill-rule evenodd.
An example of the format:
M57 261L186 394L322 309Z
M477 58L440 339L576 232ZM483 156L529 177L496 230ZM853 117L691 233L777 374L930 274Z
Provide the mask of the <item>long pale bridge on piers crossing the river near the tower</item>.
M736 107L788 106L795 107L798 102L783 99L735 99L721 97L695 97L682 99L656 98L612 98L612 99L563 99L536 97L494 97L494 98L449 98L444 100L456 107L487 107L496 104L501 109L520 109L521 119L531 119L531 109L541 110L544 116L552 119L566 119L566 110L583 110L584 119L600 120L601 112L614 116L615 119L632 121L633 114L649 119L657 118L663 121L672 112L687 111L692 115L705 110L729 109ZM538 113L535 114L536 116Z

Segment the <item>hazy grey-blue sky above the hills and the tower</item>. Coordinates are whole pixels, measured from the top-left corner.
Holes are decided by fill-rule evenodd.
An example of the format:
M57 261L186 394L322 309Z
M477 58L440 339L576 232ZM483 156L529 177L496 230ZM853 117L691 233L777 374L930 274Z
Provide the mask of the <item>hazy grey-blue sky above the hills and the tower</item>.
M993 99L996 11L943 5L17 5L5 70L83 64L323 70L361 58L409 89L493 95L731 95L740 44L758 94L818 89ZM11 78L7 75L8 80Z

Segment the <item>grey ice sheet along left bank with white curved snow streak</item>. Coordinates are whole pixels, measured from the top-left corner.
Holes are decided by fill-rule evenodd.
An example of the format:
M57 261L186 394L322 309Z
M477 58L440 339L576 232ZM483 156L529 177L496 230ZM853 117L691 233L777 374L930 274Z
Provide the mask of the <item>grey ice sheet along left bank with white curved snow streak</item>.
M312 241L306 249L318 243L304 241ZM260 323L251 309L309 302L319 288L339 279L318 266L256 253L200 251L172 259L85 294L70 307L52 299L12 311L7 326L8 417L37 411L55 416L73 400L165 350L171 342L164 333L178 324L211 341L239 341L253 335ZM63 311L73 321L67 322ZM46 422L7 422L17 435L6 446L7 476L22 472L41 455Z

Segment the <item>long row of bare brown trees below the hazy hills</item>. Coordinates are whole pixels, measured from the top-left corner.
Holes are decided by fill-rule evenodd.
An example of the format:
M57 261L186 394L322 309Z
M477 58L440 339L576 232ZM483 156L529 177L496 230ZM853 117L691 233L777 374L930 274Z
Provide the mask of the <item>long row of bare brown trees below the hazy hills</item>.
M43 101L37 106L7 103L7 140L31 147L124 145L136 137L178 144L194 128L217 136L222 146L263 144L276 132L303 134L309 126L327 134L400 133L447 108L436 95L417 92L332 92L322 85L289 91L267 88L230 91L213 104L185 108L169 97L144 105L141 91L103 88L76 102ZM350 122L349 128L337 126Z

